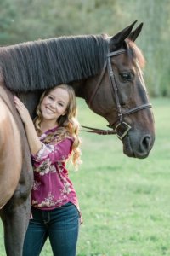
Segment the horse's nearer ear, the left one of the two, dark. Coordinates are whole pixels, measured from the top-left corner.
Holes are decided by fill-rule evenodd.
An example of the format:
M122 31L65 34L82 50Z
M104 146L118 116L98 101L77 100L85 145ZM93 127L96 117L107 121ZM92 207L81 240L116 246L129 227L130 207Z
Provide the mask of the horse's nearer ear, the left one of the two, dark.
M127 26L121 32L118 32L115 36L113 36L110 39L110 50L111 51L120 49L122 47L123 42L129 36L129 34L132 32L133 26L136 22L137 22L137 20L135 20L133 22L133 24L131 24L130 26Z

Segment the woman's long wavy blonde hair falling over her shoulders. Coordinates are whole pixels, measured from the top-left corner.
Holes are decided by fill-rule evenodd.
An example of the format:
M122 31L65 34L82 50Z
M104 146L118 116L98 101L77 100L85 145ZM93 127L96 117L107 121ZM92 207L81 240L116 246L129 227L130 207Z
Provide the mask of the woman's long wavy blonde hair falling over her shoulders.
M49 133L48 136L45 139L45 143L50 143L52 140L54 142L62 141L65 137L72 137L74 139L74 142L72 144L72 154L71 154L71 160L74 166L78 167L78 165L81 163L80 156L81 156L81 150L79 148L79 145L81 143L80 137L78 136L80 125L77 121L77 101L75 92L72 89L70 85L67 84L59 84L56 86L57 88L64 89L68 92L69 95L69 103L66 108L65 115L61 115L59 119L57 119L57 123L59 125L59 128L57 131L54 131L52 133ZM37 116L34 119L34 125L37 131L37 134L41 135L41 122L42 122L42 112L41 112L41 104L42 100L45 96L48 96L48 94L56 89L54 87L50 90L45 90L42 93L42 96L40 97L40 101L37 105Z

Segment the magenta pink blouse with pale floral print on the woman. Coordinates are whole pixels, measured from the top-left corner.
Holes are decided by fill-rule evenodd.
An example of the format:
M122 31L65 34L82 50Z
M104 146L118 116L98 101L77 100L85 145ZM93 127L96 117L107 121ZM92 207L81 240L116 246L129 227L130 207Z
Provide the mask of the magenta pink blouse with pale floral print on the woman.
M70 201L79 209L76 191L65 168L73 139L68 137L59 143L43 143L48 133L56 129L48 130L39 137L42 148L37 154L31 155L34 169L31 206L52 210Z

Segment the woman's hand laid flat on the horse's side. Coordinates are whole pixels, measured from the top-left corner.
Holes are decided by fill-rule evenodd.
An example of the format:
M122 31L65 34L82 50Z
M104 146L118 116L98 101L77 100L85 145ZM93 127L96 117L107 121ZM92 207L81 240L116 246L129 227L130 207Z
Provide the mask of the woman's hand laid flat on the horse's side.
M23 123L26 124L27 122L30 122L30 113L26 106L20 101L20 99L17 96L14 96L14 104L20 114L20 118L22 119Z

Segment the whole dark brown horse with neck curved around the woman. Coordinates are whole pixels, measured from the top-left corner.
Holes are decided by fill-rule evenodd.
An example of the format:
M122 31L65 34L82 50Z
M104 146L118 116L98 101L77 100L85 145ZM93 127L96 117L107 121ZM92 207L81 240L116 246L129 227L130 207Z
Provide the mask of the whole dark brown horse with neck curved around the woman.
M4 164L8 160L0 155L0 177L1 181L5 178L8 181L8 176L14 176L13 183L7 183L8 187L2 185L1 194L5 195L1 199L2 207L5 205L1 216L9 256L21 255L32 178L24 128L14 109L12 94L5 87L20 96L33 117L42 90L57 84L71 84L76 95L84 98L89 108L109 122L111 131L122 140L125 154L147 157L154 143L154 120L140 70L144 59L133 44L141 26L131 32L133 25L113 38L53 38L0 49L0 107L3 109L0 148L7 151L9 148L8 143L2 146L1 139L4 137L8 142L4 131L8 122L8 127L11 127L9 144L12 146L11 155L7 157L13 161L11 168Z

